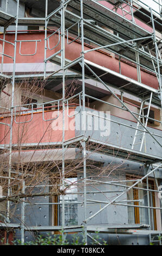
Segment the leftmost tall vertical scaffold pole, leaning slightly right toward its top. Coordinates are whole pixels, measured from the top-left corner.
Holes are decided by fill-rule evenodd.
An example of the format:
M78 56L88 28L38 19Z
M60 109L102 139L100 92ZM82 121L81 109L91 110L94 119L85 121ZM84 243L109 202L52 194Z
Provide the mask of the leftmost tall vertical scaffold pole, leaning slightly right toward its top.
M12 143L13 143L13 117L14 117L14 92L15 92L15 71L16 71L16 46L17 46L17 28L18 28L18 10L19 0L17 0L16 28L15 28L15 45L14 45L14 64L12 78L12 99L11 99L11 123L10 123L10 143L9 143L9 178L11 178L12 166ZM10 179L8 180L8 197L10 196ZM10 217L10 201L7 202L7 218Z

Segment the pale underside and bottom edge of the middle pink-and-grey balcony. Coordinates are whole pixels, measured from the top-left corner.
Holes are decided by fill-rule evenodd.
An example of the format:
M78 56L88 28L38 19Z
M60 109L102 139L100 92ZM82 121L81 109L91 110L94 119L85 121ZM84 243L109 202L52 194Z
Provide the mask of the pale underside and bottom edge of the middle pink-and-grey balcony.
M140 162L140 163L162 162L162 158L159 156L151 155L148 153L143 153L143 152L133 150L133 149L128 149L125 147L119 147L119 146L113 145L111 143L97 141L96 139L88 138L85 136L78 136L76 138L68 139L67 141L65 141L65 145L68 145L68 149L66 149L66 152L65 152L66 160L68 160L68 159L73 159L73 160L77 159L78 160L77 151L79 152L79 150L80 150L78 145L80 145L79 143L82 141L88 142L90 151L94 151L97 149L96 152L99 154L104 154L104 155L113 156L113 157L117 157L117 158L124 159L124 160ZM39 145L38 145L38 143L31 143L31 144L23 143L18 146L13 145L13 150L18 150L18 148L20 148L20 146L21 146L21 150L23 150L22 159L24 159L25 162L30 161L30 157L32 157L33 155L34 155L33 161L49 161L49 159L51 160L52 155L53 155L53 157L54 157L53 159L55 159L55 161L61 160L61 154L62 154L61 143L40 143ZM8 145L8 147L9 147L9 145ZM45 150L44 149L45 147L46 148L48 147L49 150L47 150L47 149ZM5 150L7 150L7 145L5 145L4 148L5 148ZM39 151L40 149L42 149L42 150ZM28 151L26 151L26 150L28 150ZM29 150L31 150L31 151L29 151ZM43 151L45 151L45 152L43 153ZM3 150L2 150L2 152L3 152ZM40 154L40 156L39 156L39 154ZM2 155L3 155L3 153L2 153ZM16 161L16 159L18 159L17 157L18 157L18 151L17 151L17 155L16 155L16 152L14 155L14 151L13 151L13 160L15 159L15 161ZM34 160L35 157L36 157L36 160ZM81 157L81 156L79 155L79 157Z

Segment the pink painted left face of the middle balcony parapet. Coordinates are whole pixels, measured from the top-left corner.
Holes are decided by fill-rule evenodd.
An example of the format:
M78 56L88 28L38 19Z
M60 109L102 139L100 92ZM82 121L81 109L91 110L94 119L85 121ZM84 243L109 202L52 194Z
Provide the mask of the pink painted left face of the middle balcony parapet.
M69 109L69 115L74 113L75 108ZM58 111L45 112L45 119L56 118ZM16 115L16 121L29 121L32 114ZM59 112L59 118L52 121L43 121L42 112L34 113L33 119L29 123L16 124L13 122L13 144L17 143L48 143L61 142L63 139L62 111ZM10 123L10 117L1 118L0 121L5 124ZM68 118L67 109L65 110L65 140L75 136L74 117ZM10 132L9 126L0 124L1 144L9 144Z

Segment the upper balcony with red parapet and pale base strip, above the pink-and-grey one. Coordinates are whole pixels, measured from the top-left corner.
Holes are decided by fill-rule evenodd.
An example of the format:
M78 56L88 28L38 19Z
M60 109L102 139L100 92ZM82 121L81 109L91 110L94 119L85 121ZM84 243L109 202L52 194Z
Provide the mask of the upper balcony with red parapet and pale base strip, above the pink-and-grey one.
M88 26L88 25L87 25ZM88 32L89 32L89 26L88 26ZM96 36L96 28L93 28L91 26L91 30ZM91 32L91 33L92 33ZM53 72L55 70L58 70L59 67L56 64L55 61L53 61L52 57L55 53L60 51L60 39L59 39L59 32L53 31L48 32L49 37L49 43L47 48L47 72ZM111 34L107 31L101 31L100 33L107 33L107 36L110 38L112 36L115 37L114 34ZM97 38L100 38L101 34L97 35ZM17 35L17 54L16 54L16 74L17 75L23 75L23 74L40 74L44 71L44 33L42 31L40 32L20 32ZM0 39L3 39L3 36L0 36ZM13 57L14 56L14 47L12 44L14 44L15 40L15 34L9 33L6 35L6 40L10 42L11 44L5 43L4 47L4 64L3 64L3 72L4 74L11 75L11 72L13 72L13 59L9 58L7 56ZM71 36L66 36L66 42L65 42L65 58L72 62L73 60L80 57L80 52L82 52L82 45L79 40L73 41L74 38ZM100 40L100 39L99 39ZM114 39L113 42L116 42L117 38ZM72 42L73 41L73 42ZM71 44L72 42L72 44ZM96 42L97 43L97 42ZM105 44L111 43L112 39L105 40ZM1 41L1 45L3 42ZM85 44L85 51L89 51L95 48L95 46L91 46L88 44ZM120 51L120 47L118 46L118 50ZM126 51L126 53L128 50ZM135 54L131 54L132 59L134 59ZM143 58L143 53L141 53L141 63L143 65L148 64L147 56ZM119 57L115 56L112 57L111 54L102 51L92 51L85 54L85 58L88 62L95 63L96 65L102 66L105 69L109 69L112 71L115 71L119 75L123 75L126 77L129 77L133 79L134 81L138 81L138 75L136 71L136 65L131 63L129 60L121 59L121 63L119 62ZM0 56L0 62L2 60L2 56ZM54 64L52 63L54 62ZM151 63L151 64L150 64ZM149 63L149 68L152 66L152 62ZM60 64L60 63L57 63ZM121 72L120 72L120 65L121 65ZM151 66L150 66L151 65ZM22 69L23 67L23 69ZM129 72L128 72L129 70ZM78 71L78 70L75 70ZM158 89L158 80L155 74L153 72L149 72L143 68L141 68L141 83L145 84L148 87ZM113 85L113 84L112 84ZM123 84L122 84L123 85Z

